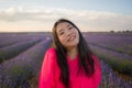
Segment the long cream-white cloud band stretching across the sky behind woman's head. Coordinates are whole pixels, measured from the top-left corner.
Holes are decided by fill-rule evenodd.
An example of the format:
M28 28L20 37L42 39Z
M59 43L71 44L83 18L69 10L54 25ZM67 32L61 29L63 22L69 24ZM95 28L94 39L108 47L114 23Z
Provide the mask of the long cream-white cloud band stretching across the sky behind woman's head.
M59 18L73 20L81 29L132 30L132 15L113 12L22 7L0 10L0 22L38 22L44 24Z

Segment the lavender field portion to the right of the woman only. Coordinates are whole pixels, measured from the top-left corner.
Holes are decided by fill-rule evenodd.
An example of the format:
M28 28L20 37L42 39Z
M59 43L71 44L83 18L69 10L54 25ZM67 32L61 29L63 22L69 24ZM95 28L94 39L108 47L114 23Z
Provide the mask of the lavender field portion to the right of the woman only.
M100 88L132 88L132 33L85 33L89 47L100 58Z

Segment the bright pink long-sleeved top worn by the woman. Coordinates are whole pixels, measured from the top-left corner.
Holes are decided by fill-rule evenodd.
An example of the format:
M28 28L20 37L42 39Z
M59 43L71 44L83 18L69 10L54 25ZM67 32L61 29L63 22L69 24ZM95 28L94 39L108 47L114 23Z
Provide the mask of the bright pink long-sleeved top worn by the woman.
M78 72L78 59L77 55L75 59L70 59L66 55L69 66L69 81L70 88L98 88L101 81L101 69L98 58L94 55L95 61L95 74L92 77L88 78L85 74L77 75ZM65 88L59 81L61 69L56 61L55 48L51 47L45 53L44 62L40 73L38 88Z

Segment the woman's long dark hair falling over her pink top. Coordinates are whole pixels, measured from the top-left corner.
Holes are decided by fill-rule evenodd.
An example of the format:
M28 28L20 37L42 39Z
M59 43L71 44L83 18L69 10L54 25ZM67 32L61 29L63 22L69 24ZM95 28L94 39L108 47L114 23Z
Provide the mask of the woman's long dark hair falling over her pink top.
M74 28L77 29L79 33L79 43L78 43L78 53L79 53L79 69L85 69L85 73L88 77L92 76L95 73L95 63L92 59L92 52L87 45L87 42L85 41L82 34L80 33L79 29L69 20L66 19L59 19L57 22L55 22L53 26L53 44L55 45L56 48L56 54L57 54L57 64L61 68L61 77L59 80L65 85L66 88L69 86L69 68L68 64L66 61L66 48L62 45L62 43L58 40L57 33L56 33L56 28L59 23L67 22L72 24Z

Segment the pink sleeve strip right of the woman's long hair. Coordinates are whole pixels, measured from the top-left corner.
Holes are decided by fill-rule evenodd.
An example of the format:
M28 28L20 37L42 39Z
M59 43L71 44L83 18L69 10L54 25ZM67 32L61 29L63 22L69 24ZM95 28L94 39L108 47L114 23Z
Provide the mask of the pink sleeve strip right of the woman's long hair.
M95 81L95 88L98 88L101 82L101 67L99 58L94 55L95 61L95 75L94 75L94 81Z

